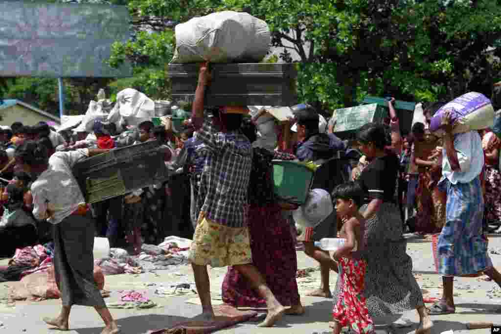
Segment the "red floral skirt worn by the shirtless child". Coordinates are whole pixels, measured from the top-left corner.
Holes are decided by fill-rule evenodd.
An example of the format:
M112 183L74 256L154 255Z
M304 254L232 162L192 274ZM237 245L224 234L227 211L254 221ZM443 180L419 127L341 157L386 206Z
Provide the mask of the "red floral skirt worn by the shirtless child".
M374 333L374 325L365 303L364 278L367 262L342 257L339 259L342 266L343 291L339 294L333 307L333 318L342 327L350 328L359 334Z

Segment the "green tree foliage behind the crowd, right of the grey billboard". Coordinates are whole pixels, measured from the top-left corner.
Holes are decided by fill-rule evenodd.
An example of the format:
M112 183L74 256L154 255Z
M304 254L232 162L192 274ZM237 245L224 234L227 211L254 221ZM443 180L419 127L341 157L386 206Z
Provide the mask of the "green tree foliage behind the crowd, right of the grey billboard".
M355 105L368 94L407 101L450 100L467 91L490 95L492 83L501 80L501 5L496 0L102 3L127 4L133 32L130 41L112 46L112 66L126 59L134 66L133 78L110 83L112 95L133 87L152 98L168 97L165 66L175 48L175 25L221 10L245 11L266 21L282 61L299 55L300 99L321 110ZM73 95L76 101L80 95Z

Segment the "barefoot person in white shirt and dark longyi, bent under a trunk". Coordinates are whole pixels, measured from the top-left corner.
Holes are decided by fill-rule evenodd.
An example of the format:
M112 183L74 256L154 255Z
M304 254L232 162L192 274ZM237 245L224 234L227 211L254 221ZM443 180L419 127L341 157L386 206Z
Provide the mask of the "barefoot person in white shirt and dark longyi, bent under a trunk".
M72 172L77 162L107 151L57 152L49 159L46 147L34 141L27 141L16 150L23 169L39 174L31 186L33 214L53 224L54 271L63 305L59 316L44 321L61 330L69 328L71 307L85 305L93 306L104 320L102 334L119 332L94 281L94 222Z

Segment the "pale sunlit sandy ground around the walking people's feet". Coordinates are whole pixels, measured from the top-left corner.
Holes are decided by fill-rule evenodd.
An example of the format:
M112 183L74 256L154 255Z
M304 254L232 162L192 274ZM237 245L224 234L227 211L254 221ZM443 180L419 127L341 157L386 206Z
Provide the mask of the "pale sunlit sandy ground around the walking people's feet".
M434 273L433 255L430 239L407 235L408 254L412 257L414 273L425 297L440 295L441 277ZM501 250L501 235L489 236L489 249ZM494 265L501 269L501 255L491 254ZM0 265L7 260L1 260ZM307 257L304 252L298 251L298 267L316 268L310 277L298 278L302 302L306 306L306 313L302 316L284 316L272 328L259 328L256 322L241 323L236 326L220 330L220 333L308 333L324 334L330 332L328 321L331 318L332 300L318 297L306 297L305 292L318 286L320 272L317 263ZM212 268L209 270L211 291L214 303L220 298L221 282L226 268ZM336 273L331 275L331 288L334 288L337 279ZM111 291L107 302L115 302L120 298L122 290L136 289L145 291L148 297L158 306L150 309L112 309L112 314L124 334L145 333L149 329L166 328L172 324L188 320L201 311L201 306L188 303L188 300L197 300L196 294L183 296L161 297L155 290L170 287L178 283L193 283L191 268L188 265L172 267L169 270L138 275L124 274L106 276L105 289ZM194 286L194 284L193 284ZM0 283L0 299L7 295L9 283ZM501 313L496 308L501 307L501 289L495 283L484 281L481 278L460 278L455 281L456 313L449 315L435 315L432 319L435 326L432 333L441 333L452 329L457 332L471 334L490 333L490 329L467 330L465 324L470 321L493 321L501 324ZM58 331L48 329L42 321L44 316L54 316L58 313L60 300L44 300L40 302L21 301L14 307L0 303L0 333L50 333ZM388 327L387 323L397 320L410 326L397 328ZM386 319L375 319L377 331L380 333L413 333L417 326L418 317L415 311L403 315L395 315ZM94 334L100 333L102 321L90 307L76 306L70 317L71 330L68 333Z

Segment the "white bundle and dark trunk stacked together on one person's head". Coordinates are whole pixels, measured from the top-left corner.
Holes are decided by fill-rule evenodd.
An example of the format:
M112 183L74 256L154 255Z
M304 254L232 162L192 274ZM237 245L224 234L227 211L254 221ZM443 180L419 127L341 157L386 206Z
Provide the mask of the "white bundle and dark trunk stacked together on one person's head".
M207 61L212 84L206 106L297 103L295 64L259 63L271 43L266 22L225 11L179 24L175 34L176 50L168 67L175 101L193 100L198 77L198 66L193 63Z

